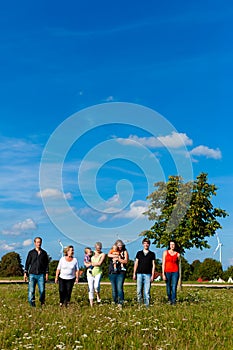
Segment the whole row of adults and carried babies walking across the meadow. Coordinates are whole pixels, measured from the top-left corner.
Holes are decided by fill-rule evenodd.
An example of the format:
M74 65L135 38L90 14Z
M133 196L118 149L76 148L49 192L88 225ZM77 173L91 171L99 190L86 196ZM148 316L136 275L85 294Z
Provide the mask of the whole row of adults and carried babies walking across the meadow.
M39 301L43 306L45 303L45 282L48 280L49 258L45 250L42 249L42 239L34 239L34 249L27 256L24 281L28 281L28 301L31 306L35 306L35 288L38 284ZM150 240L144 238L143 249L136 254L133 270L133 279L137 281L137 301L144 303L146 307L150 305L150 288L155 274L155 253L150 248ZM129 261L128 251L118 239L107 254L109 258L108 276L112 287L113 302L122 308L124 303L124 281ZM102 243L96 242L95 250L90 247L85 248L83 263L87 271L88 298L90 306L94 304L96 295L97 303L101 303L100 281L103 274L102 266L106 254L102 252ZM179 279L180 254L177 252L176 243L169 242L169 247L163 253L162 278L166 281L166 291L168 302L172 305L176 303L176 290ZM79 264L74 257L74 247L69 245L64 249L64 256L59 260L55 283L59 285L60 306L68 306L72 289L75 283L79 282Z

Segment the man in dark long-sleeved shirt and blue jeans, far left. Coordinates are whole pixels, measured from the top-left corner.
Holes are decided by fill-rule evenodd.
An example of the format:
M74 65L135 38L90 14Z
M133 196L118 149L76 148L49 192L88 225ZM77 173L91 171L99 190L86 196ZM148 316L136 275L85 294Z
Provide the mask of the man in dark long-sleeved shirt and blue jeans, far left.
M45 302L45 281L48 280L49 258L45 250L41 248L42 238L36 237L34 239L35 248L30 250L27 256L24 281L28 283L28 301L31 306L35 304L35 290L38 284L40 303L44 305Z

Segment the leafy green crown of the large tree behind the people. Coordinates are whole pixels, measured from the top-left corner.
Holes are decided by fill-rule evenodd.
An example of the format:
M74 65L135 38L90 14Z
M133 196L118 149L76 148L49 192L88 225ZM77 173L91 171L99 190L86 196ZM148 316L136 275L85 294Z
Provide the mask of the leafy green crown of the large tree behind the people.
M167 183L157 182L154 186L144 214L155 223L141 235L153 239L157 248L175 240L182 253L193 247L210 248L207 238L222 228L217 218L225 218L228 213L211 203L217 187L207 182L207 174L201 173L187 183L180 176L169 176Z

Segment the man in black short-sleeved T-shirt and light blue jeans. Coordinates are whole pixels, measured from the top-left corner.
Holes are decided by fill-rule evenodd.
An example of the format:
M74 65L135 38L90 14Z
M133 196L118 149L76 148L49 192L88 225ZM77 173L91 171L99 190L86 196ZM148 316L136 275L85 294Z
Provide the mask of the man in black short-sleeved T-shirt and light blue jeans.
M155 253L149 250L150 240L148 238L144 238L142 244L143 250L138 251L136 255L133 279L137 280L138 302L142 302L143 295L144 303L148 307L150 304L151 282L153 282L155 273Z

